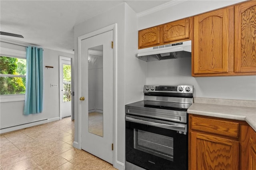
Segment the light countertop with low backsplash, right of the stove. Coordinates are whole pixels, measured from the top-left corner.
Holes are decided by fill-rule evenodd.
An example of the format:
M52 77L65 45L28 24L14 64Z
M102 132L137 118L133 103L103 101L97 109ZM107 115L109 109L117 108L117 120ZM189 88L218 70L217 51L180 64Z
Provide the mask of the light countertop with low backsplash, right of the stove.
M246 121L256 131L256 101L194 97L188 113Z

